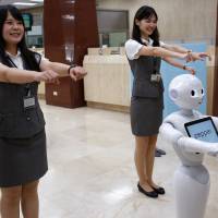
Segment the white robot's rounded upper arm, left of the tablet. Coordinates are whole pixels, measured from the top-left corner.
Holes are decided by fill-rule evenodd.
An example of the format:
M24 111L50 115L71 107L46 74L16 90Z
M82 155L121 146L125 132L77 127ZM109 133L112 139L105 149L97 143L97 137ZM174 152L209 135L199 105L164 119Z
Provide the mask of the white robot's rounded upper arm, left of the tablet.
M166 141L177 144L178 140L184 136L180 131L175 130L169 122L164 122L160 125L159 133Z

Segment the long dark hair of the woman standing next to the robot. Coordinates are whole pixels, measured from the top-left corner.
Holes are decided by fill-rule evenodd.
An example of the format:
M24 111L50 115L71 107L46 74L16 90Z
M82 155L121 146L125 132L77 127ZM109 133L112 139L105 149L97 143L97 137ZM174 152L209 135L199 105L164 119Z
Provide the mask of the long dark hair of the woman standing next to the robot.
M141 29L136 25L135 21L136 20L142 21L143 19L149 19L152 16L155 16L156 20L158 21L157 13L156 13L155 9L153 9L152 7L144 5L137 10L137 12L135 13L134 20L133 20L133 32L132 32L133 39L143 44L142 39L141 39ZM159 46L159 32L158 32L157 27L155 28L155 31L153 32L153 34L149 37L154 40L153 46Z

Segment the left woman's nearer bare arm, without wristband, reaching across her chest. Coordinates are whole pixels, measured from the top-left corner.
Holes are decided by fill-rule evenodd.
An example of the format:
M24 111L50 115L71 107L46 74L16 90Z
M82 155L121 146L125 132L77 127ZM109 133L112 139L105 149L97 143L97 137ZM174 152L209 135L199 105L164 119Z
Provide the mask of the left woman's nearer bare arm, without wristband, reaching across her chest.
M0 82L3 83L32 83L32 82L55 82L58 78L58 74L53 71L26 71L16 68L9 68L0 63Z

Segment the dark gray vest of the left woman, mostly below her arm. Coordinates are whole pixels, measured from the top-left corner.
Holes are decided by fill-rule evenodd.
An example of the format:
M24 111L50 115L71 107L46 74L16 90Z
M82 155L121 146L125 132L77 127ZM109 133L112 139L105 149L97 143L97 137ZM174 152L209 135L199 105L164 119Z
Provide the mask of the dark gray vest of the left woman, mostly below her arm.
M26 63L24 65L29 70ZM23 102L26 87L26 84L0 82L0 137L28 138L44 130L45 120L37 98L38 83L29 84L36 106L28 110L24 109Z

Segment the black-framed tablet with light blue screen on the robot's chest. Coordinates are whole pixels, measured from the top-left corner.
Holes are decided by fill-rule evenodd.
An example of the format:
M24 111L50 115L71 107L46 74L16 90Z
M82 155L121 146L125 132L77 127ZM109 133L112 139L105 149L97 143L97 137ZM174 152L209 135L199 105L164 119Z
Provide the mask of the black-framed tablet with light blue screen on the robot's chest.
M217 129L210 117L184 124L187 135L199 141L218 143Z

